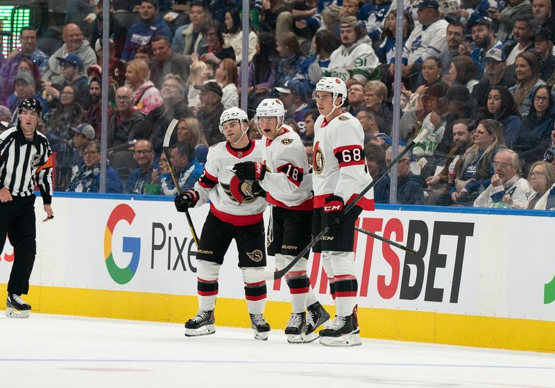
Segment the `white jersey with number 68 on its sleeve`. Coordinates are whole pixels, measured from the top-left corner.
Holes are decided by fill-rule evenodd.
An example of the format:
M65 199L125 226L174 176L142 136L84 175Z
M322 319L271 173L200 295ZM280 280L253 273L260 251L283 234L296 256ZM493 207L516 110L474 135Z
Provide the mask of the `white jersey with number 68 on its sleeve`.
M316 119L313 167L314 208L323 207L330 195L338 195L348 204L372 182L364 158L364 131L357 118L343 112L329 123L324 116ZM373 190L357 206L373 210Z

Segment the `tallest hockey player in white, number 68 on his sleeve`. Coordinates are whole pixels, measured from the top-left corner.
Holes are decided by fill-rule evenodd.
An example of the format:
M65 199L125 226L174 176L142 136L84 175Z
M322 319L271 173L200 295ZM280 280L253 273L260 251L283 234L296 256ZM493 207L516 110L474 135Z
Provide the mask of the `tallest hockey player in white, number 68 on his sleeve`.
M361 344L356 312L358 291L355 276L355 221L361 211L372 210L372 191L362 197L349 213L343 207L352 202L372 178L364 158L364 131L359 121L341 111L347 87L339 78L324 77L316 84L314 99L321 116L314 123L314 218L312 233L330 230L316 245L322 252L324 270L336 306L336 318L320 331L321 344Z

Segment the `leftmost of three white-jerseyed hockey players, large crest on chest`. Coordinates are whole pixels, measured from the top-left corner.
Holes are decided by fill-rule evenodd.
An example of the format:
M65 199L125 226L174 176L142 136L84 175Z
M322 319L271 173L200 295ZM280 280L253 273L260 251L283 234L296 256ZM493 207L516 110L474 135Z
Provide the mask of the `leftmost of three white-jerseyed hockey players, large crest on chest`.
M210 200L210 213L196 253L198 312L185 323L185 335L214 333L220 266L231 240L235 239L251 326L257 340L267 340L270 325L262 315L266 306L266 282L246 279L244 271L247 268L264 270L266 266L262 213L267 204L264 197L257 197L251 182L241 181L228 168L239 161L261 160L262 144L248 139L248 116L237 107L223 111L219 127L227 141L210 148L203 175L194 189L178 194L175 199L178 211L201 206Z

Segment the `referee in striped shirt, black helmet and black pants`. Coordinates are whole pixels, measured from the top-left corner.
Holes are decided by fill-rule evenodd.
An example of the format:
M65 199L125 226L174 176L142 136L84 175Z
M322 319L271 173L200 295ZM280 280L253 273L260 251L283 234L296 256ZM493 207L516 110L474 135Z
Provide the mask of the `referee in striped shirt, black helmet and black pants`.
M54 218L52 207L52 151L46 136L37 132L41 107L35 98L19 104L19 123L0 134L0 253L6 234L14 247L6 316L26 318L31 305L22 294L29 290L35 263L35 183L40 188L46 218Z

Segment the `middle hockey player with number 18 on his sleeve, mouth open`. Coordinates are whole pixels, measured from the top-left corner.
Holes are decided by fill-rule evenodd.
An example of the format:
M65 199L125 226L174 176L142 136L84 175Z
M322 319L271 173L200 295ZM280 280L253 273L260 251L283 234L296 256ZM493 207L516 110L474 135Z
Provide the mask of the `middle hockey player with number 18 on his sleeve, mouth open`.
M299 135L283 124L284 114L284 105L277 98L262 100L256 109L258 130L265 137L262 162L245 161L234 166L239 179L257 179L273 205L268 254L275 256L278 268L291 263L310 243L307 225L311 224L314 206L307 152ZM285 334L291 343L316 340L316 328L330 319L310 287L307 258L308 253L285 275L293 310Z

